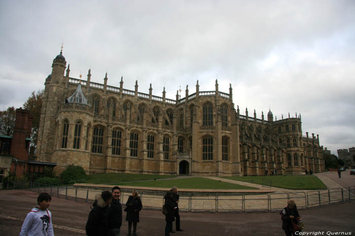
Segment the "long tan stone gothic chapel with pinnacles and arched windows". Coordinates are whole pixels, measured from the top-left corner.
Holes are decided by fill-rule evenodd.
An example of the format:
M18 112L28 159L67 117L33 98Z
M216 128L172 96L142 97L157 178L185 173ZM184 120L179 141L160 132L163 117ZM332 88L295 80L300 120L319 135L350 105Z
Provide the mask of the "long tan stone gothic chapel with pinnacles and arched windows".
M165 98L69 77L62 52L46 78L37 160L80 165L87 173L263 175L323 172L318 135L302 135L301 116L267 120L235 110L232 88Z

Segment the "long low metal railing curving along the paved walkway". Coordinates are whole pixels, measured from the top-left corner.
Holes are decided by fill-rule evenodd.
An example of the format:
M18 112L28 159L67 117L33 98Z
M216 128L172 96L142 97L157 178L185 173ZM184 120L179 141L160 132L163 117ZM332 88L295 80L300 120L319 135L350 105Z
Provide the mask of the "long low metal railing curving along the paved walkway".
M9 188L9 186L7 186ZM36 182L13 183L15 189L46 192L57 198L92 203L95 196L110 188L90 189L81 186L53 186ZM137 190L144 209L161 210L164 192ZM131 195L130 189L121 187L121 203ZM184 212L277 212L287 206L288 200L295 200L298 209L318 208L355 200L355 186L294 193L270 194L187 194L180 193L179 209Z

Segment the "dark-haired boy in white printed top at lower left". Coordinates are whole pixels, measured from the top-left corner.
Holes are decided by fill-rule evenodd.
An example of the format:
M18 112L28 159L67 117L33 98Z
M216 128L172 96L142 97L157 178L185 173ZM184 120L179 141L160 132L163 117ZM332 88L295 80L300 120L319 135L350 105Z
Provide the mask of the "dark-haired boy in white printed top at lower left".
M41 193L37 198L40 207L32 208L23 221L20 236L54 236L52 213L48 210L51 205L51 196Z

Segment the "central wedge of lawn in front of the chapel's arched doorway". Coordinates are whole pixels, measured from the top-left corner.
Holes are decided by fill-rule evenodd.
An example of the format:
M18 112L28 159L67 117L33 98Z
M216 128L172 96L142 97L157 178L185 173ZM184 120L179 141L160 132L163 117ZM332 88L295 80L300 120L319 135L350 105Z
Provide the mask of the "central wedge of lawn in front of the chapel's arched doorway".
M130 183L117 183L118 185L129 186L144 186L144 187L164 187L171 188L177 186L178 188L195 188L195 189L208 189L208 190L254 190L254 187L243 186L239 184L227 183L202 177L167 179L156 181L143 181L143 182L130 182Z

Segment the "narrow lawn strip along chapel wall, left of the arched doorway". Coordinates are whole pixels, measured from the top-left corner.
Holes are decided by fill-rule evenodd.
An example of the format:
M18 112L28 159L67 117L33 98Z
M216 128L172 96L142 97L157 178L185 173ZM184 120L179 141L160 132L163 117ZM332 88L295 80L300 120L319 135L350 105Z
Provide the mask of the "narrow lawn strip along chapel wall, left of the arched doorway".
M87 176L87 183L117 183L130 181L154 180L162 178L175 178L176 175L159 175L159 174L125 174L125 173L107 173L107 174L90 174Z

